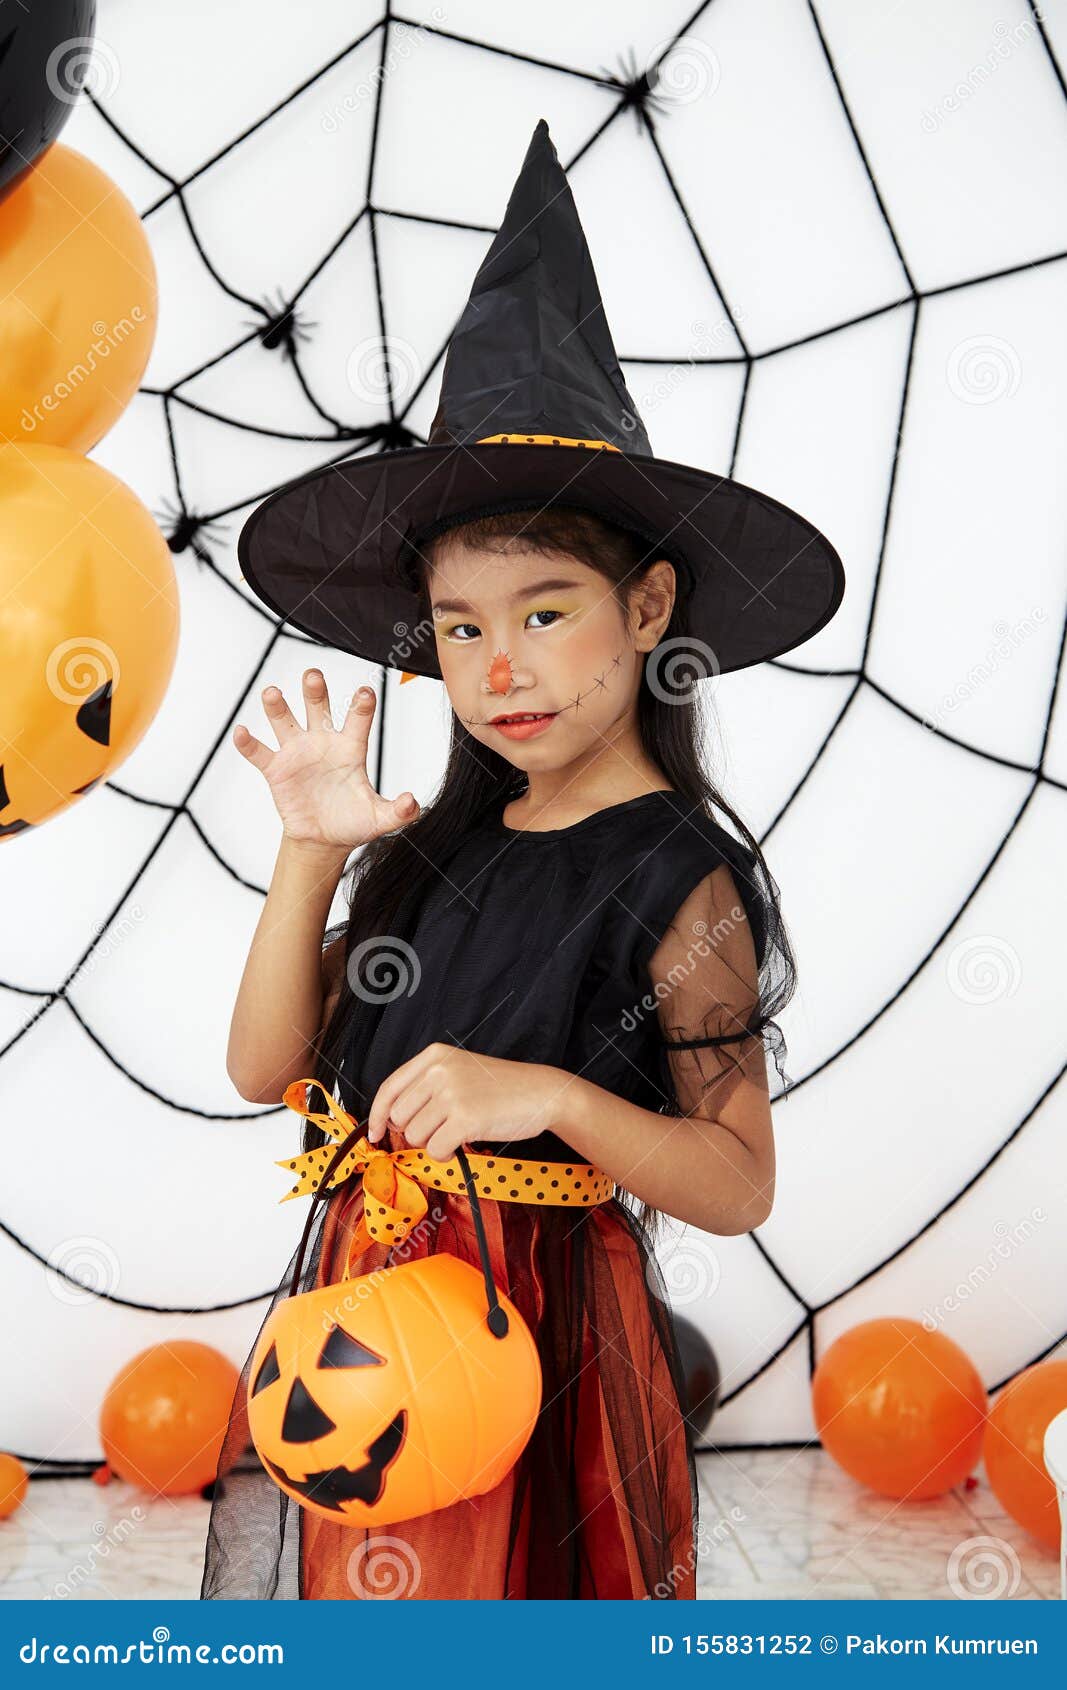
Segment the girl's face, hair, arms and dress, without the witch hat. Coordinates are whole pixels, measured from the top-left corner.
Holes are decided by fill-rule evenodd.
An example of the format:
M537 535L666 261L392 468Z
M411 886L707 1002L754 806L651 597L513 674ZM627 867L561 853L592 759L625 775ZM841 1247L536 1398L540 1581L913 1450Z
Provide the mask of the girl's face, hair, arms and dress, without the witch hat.
M671 564L637 571L637 551L560 507L431 544L453 739L421 813L367 777L374 696L358 693L335 732L316 669L306 727L264 693L277 750L235 728L284 825L233 1016L242 1095L277 1102L315 1073L391 1149L588 1161L617 1195L582 1212L482 1205L494 1276L536 1335L544 1379L504 1482L375 1533L303 1511L262 1469L228 1474L205 1597L695 1595L685 1381L649 1229L659 1210L712 1234L766 1218L761 1033L778 1034L769 1014L793 975L759 847L703 772L695 695L649 688L648 654L678 624ZM494 725L517 713L539 725ZM320 985L325 914L353 847L350 914ZM306 1134L304 1149L325 1142ZM430 1198L396 1259L448 1249L477 1266L467 1197ZM340 1279L360 1213L358 1181L325 1200L299 1289ZM374 1244L352 1273L387 1261ZM247 1382L249 1362L222 1474L249 1442Z

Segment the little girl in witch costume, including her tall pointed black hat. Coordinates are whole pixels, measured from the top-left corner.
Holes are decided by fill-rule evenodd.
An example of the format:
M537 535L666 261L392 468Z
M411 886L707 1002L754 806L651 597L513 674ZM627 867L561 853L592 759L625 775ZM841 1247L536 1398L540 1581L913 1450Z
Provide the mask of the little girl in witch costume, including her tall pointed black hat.
M238 559L313 639L443 681L451 744L421 811L369 781L367 690L338 730L309 669L303 725L264 693L277 749L235 728L282 845L230 1077L262 1104L316 1078L391 1153L538 1161L543 1190L506 1186L482 1212L543 1398L494 1489L369 1531L243 1460L249 1357L201 1595L693 1597L697 1475L654 1234L668 1213L698 1252L700 1232L766 1220L764 1051L783 1055L773 1016L795 967L759 845L705 772L692 681L815 634L840 559L774 499L653 456L544 120L448 345L428 444L279 488ZM347 921L325 933L353 850ZM309 1119L303 1149L326 1142ZM575 1163L602 1176L602 1202L568 1207ZM358 1175L323 1191L293 1289L435 1251L479 1266L467 1195L428 1198L389 1249L357 1237Z

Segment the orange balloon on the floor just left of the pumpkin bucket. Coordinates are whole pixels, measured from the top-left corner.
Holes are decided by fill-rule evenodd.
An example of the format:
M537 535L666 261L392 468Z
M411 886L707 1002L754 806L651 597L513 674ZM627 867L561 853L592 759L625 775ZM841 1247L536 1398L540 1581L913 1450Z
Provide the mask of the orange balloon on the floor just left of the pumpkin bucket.
M232 1360L194 1338L134 1355L100 1409L100 1440L115 1475L162 1496L210 1484L238 1377Z

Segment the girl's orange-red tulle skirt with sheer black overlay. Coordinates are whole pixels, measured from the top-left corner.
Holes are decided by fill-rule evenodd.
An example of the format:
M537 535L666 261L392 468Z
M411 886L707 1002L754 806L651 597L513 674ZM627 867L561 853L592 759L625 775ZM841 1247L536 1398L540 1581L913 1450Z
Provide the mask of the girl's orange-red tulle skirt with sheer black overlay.
M480 1266L467 1197L431 1190L428 1203L392 1259L441 1249ZM303 1289L342 1278L360 1215L358 1181L326 1200ZM225 1472L249 1448L249 1355L220 1460L201 1597L695 1597L685 1384L644 1229L617 1198L582 1212L485 1202L482 1217L494 1278L541 1357L541 1411L516 1465L484 1496L430 1514L382 1528L337 1524L293 1502L262 1467ZM352 1273L387 1262L387 1246L370 1244Z

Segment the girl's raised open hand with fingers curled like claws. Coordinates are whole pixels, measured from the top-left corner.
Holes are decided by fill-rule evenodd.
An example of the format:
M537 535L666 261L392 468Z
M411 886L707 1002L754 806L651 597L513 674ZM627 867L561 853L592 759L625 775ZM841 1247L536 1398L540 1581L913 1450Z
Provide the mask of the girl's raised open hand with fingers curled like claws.
M277 686L264 690L264 710L277 735L271 750L237 723L233 744L271 788L287 838L303 845L333 845L352 850L380 833L394 833L414 821L419 806L411 793L380 798L367 777L367 740L375 696L360 688L338 730L330 715L330 695L321 669L304 669L303 728Z

